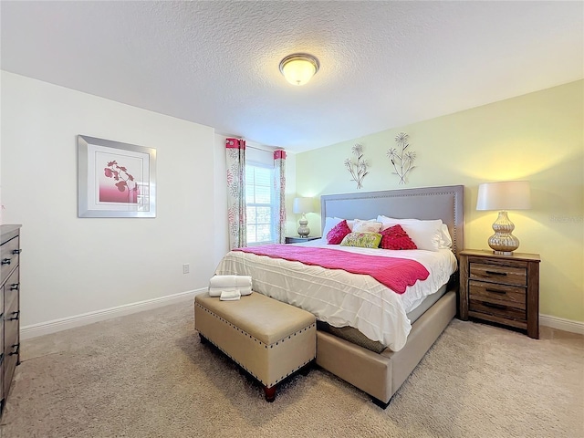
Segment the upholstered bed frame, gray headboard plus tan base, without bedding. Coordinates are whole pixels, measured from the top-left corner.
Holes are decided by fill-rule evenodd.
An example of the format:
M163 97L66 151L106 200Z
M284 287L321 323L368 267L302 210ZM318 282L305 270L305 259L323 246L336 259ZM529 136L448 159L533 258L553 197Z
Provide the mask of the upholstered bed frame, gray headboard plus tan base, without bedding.
M464 248L464 186L421 187L369 193L325 194L320 197L322 229L327 217L415 217L442 219L453 238L453 252ZM456 276L454 276L454 279ZM317 331L317 364L367 392L386 408L456 313L456 284L412 324L400 351L374 353L330 333Z

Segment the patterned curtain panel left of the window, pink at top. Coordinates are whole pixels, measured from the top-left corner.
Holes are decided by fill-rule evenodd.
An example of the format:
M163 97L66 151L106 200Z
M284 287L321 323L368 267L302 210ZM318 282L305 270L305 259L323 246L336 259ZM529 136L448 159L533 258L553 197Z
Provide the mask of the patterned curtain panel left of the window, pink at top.
M226 139L229 248L247 245L245 225L245 140Z

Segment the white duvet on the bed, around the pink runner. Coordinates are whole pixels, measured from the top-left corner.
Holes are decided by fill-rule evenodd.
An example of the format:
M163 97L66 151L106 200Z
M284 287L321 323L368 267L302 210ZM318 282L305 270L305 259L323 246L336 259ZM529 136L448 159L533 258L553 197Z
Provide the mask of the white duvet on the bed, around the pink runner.
M327 245L326 239L292 245L417 260L428 269L430 276L407 287L400 295L372 276L242 251L225 255L215 274L252 276L256 292L304 308L333 327L358 328L368 338L380 341L393 351L403 348L412 329L406 313L442 287L457 267L456 257L449 249L392 251Z

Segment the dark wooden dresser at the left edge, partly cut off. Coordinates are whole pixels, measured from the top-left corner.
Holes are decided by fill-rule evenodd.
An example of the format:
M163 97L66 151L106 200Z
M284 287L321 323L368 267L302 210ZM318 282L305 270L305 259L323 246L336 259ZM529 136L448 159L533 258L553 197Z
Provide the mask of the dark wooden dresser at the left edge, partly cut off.
M0 225L0 415L20 363L20 225Z

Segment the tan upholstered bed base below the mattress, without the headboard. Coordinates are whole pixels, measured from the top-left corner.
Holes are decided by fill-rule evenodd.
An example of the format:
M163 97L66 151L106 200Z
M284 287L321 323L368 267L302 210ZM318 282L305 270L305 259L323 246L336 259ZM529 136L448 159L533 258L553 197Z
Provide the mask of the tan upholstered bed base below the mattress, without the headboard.
M382 409L406 381L456 314L456 292L444 294L412 324L400 351L374 353L330 333L317 331L317 364L372 397Z

